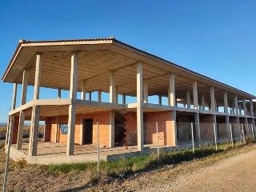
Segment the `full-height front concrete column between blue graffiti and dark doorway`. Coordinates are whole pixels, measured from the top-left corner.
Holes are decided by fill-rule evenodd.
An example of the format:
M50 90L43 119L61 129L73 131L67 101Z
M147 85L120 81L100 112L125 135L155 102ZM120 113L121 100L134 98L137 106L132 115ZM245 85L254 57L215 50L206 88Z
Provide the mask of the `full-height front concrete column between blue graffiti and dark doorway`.
M78 86L78 52L75 51L71 56L70 68L70 98L72 103L69 106L68 118L68 131L66 141L66 155L74 154L74 129L75 129L75 116L76 116L76 99L77 99L77 86Z

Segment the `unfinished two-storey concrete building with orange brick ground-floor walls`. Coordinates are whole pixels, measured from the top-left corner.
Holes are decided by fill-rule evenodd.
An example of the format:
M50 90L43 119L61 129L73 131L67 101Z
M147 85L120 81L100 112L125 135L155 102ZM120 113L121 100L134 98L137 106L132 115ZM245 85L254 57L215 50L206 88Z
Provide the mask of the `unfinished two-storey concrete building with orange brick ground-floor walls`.
M39 121L46 124L44 142L65 143L66 158L70 158L74 156L74 144L95 143L96 122L102 146L113 148L121 139L127 146L143 151L145 143L156 142L154 131L145 134L150 129L146 123L161 124L162 145L178 146L178 139L183 137L178 123L193 122L194 138L200 143L204 139L200 132L211 129L200 127L200 122L222 123L222 131L230 134L230 123L248 126L254 125L255 119L254 95L113 37L21 40L2 81L14 83L8 124L13 130L13 152L22 150L22 125L31 121L27 159L38 155ZM16 106L18 84L22 85L20 106ZM26 99L27 86L34 86L31 101ZM40 98L41 87L55 89L56 98ZM62 98L64 90L69 90L69 98ZM96 101L92 101L91 93L97 94ZM104 97L108 102L102 101L102 93L107 93ZM150 103L151 96L158 102ZM136 101L127 103L128 97ZM119 138L114 137L118 122L123 123ZM217 126L213 129L221 134Z

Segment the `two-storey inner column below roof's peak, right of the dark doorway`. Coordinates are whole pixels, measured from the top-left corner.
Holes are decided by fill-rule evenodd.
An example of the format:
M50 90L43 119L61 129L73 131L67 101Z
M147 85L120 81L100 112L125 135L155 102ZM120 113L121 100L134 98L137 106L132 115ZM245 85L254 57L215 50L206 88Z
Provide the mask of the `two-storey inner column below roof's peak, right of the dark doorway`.
M115 72L110 71L110 103L116 102ZM114 111L110 111L109 147L114 147Z

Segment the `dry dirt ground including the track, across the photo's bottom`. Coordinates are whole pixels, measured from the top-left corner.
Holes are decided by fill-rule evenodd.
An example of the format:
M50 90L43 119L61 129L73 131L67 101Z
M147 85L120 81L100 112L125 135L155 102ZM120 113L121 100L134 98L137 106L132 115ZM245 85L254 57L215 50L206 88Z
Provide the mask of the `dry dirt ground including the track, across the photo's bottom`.
M40 166L12 168L7 191L255 191L255 159L254 144L178 166L163 166L119 178L103 177L99 185L90 183L91 173L86 171L49 174Z

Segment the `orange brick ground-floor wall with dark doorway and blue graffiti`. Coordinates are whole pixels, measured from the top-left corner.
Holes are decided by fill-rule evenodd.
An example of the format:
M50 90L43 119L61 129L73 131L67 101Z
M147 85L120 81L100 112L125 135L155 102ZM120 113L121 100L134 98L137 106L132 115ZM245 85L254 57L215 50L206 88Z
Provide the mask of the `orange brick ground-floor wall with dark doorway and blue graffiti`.
M97 114L77 114L75 119L75 130L74 130L74 143L76 144L83 144L83 134L84 134L84 126L83 120L86 118L93 119L93 143L97 143L97 122L99 124L99 138L100 138L100 145L108 146L109 143L109 122L110 122L110 113L97 113ZM47 134L50 135L50 142L56 141L56 133L57 130L57 142L66 143L67 134L62 134L59 128L61 123L67 123L68 116L61 116L61 117L53 117L48 118L46 121L46 129ZM57 126L57 129L56 129Z

